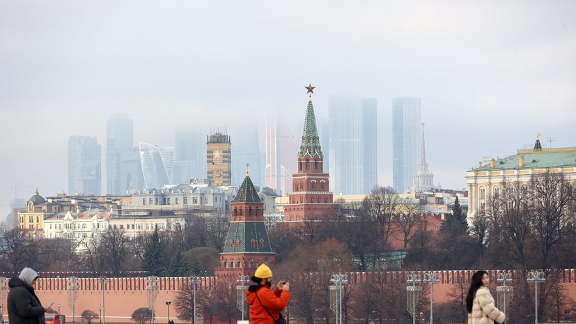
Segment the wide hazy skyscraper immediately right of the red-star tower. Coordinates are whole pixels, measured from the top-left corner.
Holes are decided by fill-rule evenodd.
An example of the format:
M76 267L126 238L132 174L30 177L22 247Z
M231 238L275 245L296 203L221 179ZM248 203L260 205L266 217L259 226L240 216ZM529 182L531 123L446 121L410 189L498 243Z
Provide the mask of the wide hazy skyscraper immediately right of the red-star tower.
M328 118L330 190L367 194L378 179L376 98L332 96Z

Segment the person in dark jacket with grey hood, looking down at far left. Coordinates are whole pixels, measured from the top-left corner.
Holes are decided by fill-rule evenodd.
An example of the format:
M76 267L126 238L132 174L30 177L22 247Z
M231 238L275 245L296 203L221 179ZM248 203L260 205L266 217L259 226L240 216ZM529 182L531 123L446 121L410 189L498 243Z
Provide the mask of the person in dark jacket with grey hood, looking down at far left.
M44 313L48 307L42 306L34 293L38 272L24 268L18 277L10 278L8 287L8 321L10 324L45 324Z

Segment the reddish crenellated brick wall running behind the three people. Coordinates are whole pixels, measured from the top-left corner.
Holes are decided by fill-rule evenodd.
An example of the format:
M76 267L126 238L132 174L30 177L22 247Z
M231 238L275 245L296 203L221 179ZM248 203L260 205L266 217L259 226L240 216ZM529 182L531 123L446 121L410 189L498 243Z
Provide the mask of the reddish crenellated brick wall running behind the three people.
M409 272L394 271L394 272L349 272L348 287L352 288L355 285L362 284L369 281L371 277L383 276L384 282L401 282L406 285L406 275ZM497 270L488 271L490 275L490 286L497 284ZM460 280L465 282L467 289L470 279L474 274L473 270L462 271L439 271L439 284L434 287L434 304L442 304L448 300L448 294L451 290L458 287ZM423 275L421 275L423 277ZM519 278L515 273L512 273L514 282L526 280ZM161 277L158 278L157 295L155 296L155 323L167 323L168 321L168 308L166 301L171 301L171 319L176 323L182 323L178 320L178 314L174 308L174 301L176 295L181 288L187 285L187 277ZM196 294L201 295L203 291L215 288L217 277L202 277L201 283L196 286ZM576 269L564 270L561 274L561 282L570 298L576 299ZM78 293L76 296L76 315L75 320L81 322L81 312L86 309L91 309L97 314L100 314L100 304L102 304L102 286L98 283L98 278L79 278L77 283ZM131 278L110 278L109 283L104 287L104 303L105 303L105 320L109 323L131 323L130 316L132 312L140 307L148 306L148 293L146 289L148 282L146 277L131 277ZM65 314L66 321L72 323L72 309L68 304L68 280L66 278L40 278L38 279L36 294L42 304L49 304L54 302L52 307L55 311L60 304L61 314ZM234 284L231 286L233 289ZM422 295L423 299L429 298L427 293ZM6 307L6 295L4 295L2 308ZM199 311L199 323L201 322L201 311ZM217 318L212 318L214 323L217 323ZM4 321L8 321L8 314L4 314ZM95 320L98 323L98 320Z

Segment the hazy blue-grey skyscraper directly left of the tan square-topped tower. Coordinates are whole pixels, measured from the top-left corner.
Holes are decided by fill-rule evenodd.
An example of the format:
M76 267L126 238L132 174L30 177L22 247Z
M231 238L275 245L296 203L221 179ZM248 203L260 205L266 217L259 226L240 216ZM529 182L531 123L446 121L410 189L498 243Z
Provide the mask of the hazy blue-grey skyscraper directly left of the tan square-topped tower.
M186 179L205 178L205 144L203 136L197 130L176 131L176 160L174 160L175 184Z

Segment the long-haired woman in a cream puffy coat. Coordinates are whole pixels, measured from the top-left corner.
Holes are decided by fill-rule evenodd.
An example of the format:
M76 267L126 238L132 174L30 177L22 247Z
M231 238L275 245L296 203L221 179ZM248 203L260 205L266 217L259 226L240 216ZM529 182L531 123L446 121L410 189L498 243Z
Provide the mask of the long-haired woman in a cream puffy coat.
M472 276L472 284L466 296L468 324L504 324L506 315L497 309L494 298L488 290L488 273L476 271Z

